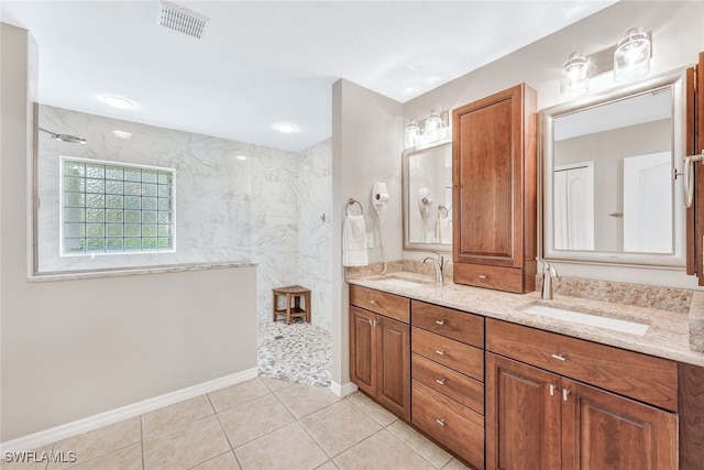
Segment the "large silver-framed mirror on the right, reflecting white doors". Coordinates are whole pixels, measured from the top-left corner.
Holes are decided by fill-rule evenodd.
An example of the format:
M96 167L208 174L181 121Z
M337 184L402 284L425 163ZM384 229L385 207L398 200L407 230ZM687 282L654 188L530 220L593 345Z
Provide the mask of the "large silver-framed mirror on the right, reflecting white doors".
M685 75L541 110L542 256L683 266Z

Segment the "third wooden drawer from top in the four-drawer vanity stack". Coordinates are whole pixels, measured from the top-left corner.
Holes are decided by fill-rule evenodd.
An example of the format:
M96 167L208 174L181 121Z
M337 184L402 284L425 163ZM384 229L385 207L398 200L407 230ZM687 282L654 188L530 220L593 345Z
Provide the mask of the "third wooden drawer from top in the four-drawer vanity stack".
M484 414L484 383L416 353L413 354L411 370L414 380L481 415Z

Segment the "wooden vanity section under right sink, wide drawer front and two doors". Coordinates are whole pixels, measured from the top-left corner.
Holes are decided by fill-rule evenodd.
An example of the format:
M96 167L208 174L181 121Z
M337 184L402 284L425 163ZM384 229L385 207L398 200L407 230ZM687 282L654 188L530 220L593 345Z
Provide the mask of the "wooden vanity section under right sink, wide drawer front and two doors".
M676 363L495 319L486 348L487 468L678 469Z

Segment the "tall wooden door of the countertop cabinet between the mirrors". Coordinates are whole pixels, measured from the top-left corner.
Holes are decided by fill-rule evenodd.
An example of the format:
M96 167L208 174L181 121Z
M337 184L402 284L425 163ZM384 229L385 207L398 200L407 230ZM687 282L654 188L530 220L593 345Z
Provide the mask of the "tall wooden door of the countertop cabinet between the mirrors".
M524 89L519 85L453 111L455 263L521 267L524 247L532 250L535 239L524 240L532 232L524 233L524 223L534 227L524 212L525 192L535 194L535 155L524 161Z

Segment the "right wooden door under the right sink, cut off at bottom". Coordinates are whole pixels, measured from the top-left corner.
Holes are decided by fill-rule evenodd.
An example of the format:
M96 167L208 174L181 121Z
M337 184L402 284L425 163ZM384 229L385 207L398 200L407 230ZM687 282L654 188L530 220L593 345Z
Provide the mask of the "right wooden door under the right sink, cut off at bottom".
M564 469L678 468L675 414L570 379L562 387Z

